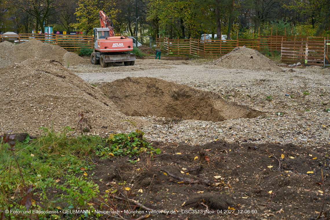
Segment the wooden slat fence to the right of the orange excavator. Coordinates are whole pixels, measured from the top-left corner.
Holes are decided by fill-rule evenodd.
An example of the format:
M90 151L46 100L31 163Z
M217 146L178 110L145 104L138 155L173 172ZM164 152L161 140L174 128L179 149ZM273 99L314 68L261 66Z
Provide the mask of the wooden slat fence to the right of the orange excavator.
M301 62L323 65L326 37L309 36L258 36L257 39L199 40L156 38L156 48L166 54L192 55L201 58L220 57L235 47L246 46L258 51L281 51L283 63ZM306 62L305 62L306 60Z

